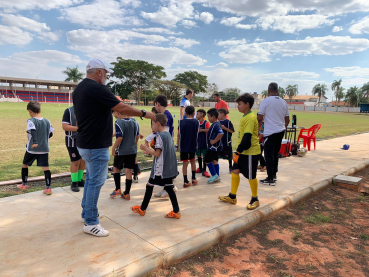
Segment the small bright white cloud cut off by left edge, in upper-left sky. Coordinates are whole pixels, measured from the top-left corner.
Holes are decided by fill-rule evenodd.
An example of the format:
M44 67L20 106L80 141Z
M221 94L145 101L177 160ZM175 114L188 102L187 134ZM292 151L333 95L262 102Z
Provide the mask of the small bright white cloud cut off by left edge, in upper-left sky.
M32 36L30 33L24 32L18 27L0 25L0 45L14 44L24 46L31 41Z

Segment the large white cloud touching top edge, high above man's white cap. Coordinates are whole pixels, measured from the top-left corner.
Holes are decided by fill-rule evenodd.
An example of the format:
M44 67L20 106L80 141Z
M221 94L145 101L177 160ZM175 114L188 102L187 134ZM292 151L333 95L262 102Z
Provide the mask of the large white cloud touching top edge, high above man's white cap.
M92 4L85 4L61 10L61 19L91 28L103 28L119 25L141 25L142 22L128 16L121 4L114 0L96 0Z

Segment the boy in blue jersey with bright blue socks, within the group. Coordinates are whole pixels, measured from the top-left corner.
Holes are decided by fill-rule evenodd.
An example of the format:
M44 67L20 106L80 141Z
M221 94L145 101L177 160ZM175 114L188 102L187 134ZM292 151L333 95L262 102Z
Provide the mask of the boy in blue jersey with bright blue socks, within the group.
M223 149L221 139L224 133L218 121L218 115L217 109L212 108L208 110L208 119L210 123L212 123L208 131L208 135L206 136L208 151L205 155L205 163L211 174L211 177L208 180L209 184L220 181L218 159L219 152Z

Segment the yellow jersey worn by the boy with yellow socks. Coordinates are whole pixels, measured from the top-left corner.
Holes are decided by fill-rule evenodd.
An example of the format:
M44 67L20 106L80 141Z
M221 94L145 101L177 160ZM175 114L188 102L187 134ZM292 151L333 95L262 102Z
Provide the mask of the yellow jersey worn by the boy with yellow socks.
M240 128L238 131L238 145L240 145L243 135L246 133L251 134L251 147L243 151L241 154L259 155L261 153L259 144L259 123L252 111L241 118Z

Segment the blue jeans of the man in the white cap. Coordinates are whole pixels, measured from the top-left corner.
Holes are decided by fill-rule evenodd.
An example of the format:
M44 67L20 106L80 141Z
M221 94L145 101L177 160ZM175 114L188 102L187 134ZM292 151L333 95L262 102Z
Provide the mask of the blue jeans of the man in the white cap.
M83 149L78 147L78 152L86 162L82 218L85 219L87 225L97 225L99 224L97 201L99 200L101 187L104 185L108 175L109 148Z

